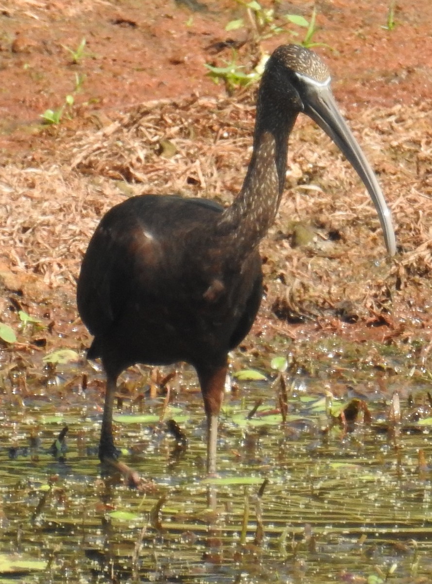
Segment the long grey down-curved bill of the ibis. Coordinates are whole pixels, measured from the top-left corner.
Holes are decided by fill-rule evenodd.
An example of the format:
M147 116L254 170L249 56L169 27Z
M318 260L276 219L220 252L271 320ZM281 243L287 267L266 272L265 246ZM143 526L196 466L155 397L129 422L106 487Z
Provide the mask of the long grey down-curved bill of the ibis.
M330 79L322 84L311 84L310 79L308 81L307 92L303 99L304 113L311 117L329 135L360 176L380 218L387 251L389 255L395 255L396 238L390 210L387 207L374 171L339 112L329 86Z

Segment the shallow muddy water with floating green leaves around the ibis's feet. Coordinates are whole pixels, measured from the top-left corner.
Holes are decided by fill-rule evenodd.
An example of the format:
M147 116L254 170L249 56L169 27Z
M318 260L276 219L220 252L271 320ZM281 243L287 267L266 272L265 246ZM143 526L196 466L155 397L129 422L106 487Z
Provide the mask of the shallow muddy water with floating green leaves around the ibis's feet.
M189 380L183 372L182 384ZM187 435L184 452L164 423L118 418L118 446L130 449L124 460L149 481L137 491L101 477L97 390L68 381L58 377L49 398L11 391L3 401L2 582L430 581L426 392L416 394L417 415L404 417L402 406L400 424L378 396L368 403L371 423L360 416L347 428L329 423L322 382L299 377L282 425L278 388L242 383L225 402L212 513L195 391L173 394L165 412ZM123 413L157 419L163 399L124 401ZM339 406L333 400L333 412ZM52 450L65 424L65 447Z

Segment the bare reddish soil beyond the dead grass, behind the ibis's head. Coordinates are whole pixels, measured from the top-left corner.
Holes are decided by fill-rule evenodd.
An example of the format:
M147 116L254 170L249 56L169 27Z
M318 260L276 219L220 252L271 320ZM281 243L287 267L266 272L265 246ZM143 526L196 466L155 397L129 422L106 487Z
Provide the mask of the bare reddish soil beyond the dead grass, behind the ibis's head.
M262 2L262 5L271 5ZM280 13L310 18L312 2L275 3ZM347 107L419 102L432 93L432 4L396 4L393 30L386 30L389 0L333 0L317 4L317 48L331 62L334 91ZM240 15L233 0L212 0L192 11L186 3L149 0L5 0L1 5L0 100L3 152L10 142L26 148L21 124L40 120L46 109L62 105L84 77L75 96L82 112L122 110L149 99L191 94L217 95L222 86L206 77L205 62L215 60L214 43L244 40L245 29L224 26ZM303 33L303 29L293 26ZM86 39L85 56L72 63L66 47ZM264 43L271 49L287 35ZM229 61L226 49L216 60ZM32 144L33 145L33 144ZM33 145L34 146L34 145Z

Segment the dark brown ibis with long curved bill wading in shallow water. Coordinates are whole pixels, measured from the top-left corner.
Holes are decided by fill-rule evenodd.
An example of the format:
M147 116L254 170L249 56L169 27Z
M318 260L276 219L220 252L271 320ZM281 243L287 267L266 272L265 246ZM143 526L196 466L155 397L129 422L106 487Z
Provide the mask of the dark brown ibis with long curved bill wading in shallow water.
M252 158L233 204L132 197L104 215L89 243L78 310L94 335L88 357L101 357L107 376L101 460L117 457L112 417L119 374L135 363L187 361L198 374L207 416L207 470L216 472L227 355L247 335L261 303L259 242L278 212L288 138L301 112L352 164L375 204L388 253L395 253L387 204L339 113L326 65L307 48L280 46L259 86Z

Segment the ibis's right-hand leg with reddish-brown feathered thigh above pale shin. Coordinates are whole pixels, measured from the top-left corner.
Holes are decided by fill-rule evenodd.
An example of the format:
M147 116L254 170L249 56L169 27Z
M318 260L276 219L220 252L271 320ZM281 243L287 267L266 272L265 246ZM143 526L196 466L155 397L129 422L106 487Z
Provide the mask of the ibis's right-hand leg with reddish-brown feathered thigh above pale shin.
M217 422L222 405L228 365L225 362L217 369L198 371L199 383L207 416L207 472L216 474Z

